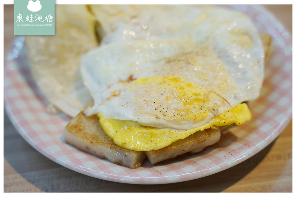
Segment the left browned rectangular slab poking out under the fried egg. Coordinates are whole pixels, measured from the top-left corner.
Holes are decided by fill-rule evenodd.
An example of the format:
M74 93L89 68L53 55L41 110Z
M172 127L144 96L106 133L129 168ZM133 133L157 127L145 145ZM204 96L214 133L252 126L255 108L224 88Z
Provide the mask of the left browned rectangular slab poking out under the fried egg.
M92 102L88 106L91 106ZM86 106L86 107L88 107ZM84 111L84 110L83 110ZM86 116L83 111L65 127L64 136L68 144L103 159L130 168L141 165L146 155L114 144L103 131L97 115Z

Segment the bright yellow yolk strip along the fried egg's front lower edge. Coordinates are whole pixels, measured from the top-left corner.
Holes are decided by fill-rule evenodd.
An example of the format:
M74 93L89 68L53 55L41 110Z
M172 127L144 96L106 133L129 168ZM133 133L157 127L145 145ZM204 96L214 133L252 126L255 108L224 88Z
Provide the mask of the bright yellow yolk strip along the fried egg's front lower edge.
M250 120L251 113L247 104L242 103L216 116L209 123L189 130L155 128L142 126L136 121L106 119L102 113L98 117L104 131L118 146L134 151L151 151L211 126L241 125Z

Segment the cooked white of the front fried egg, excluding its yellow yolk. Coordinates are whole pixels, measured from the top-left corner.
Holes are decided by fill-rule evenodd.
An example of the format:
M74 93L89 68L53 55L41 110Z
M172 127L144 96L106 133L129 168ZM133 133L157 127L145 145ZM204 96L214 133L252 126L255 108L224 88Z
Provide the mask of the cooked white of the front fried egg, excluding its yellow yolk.
M186 130L258 97L263 81L264 50L251 20L225 8L185 8L186 14L180 14L174 21L168 18L171 12L153 12L158 17L154 15L152 23L148 17L151 10L142 10L137 19L141 24L150 22L155 30L151 29L152 37L152 34L126 37L126 29L118 27L115 29L120 32L110 34L109 41L83 56L81 75L94 99L93 107L86 110L87 115L102 113L105 118L137 121L144 126ZM133 24L126 28L139 35L137 25ZM157 83L136 87L133 84L133 79L154 76L174 76L195 84L204 95L202 102L211 106L209 115L202 121L183 119L173 112L162 115L166 108L181 110L184 106L176 100L163 102ZM172 92L163 94L166 98ZM153 102L145 107L145 100ZM164 108L158 113L155 108L160 105Z

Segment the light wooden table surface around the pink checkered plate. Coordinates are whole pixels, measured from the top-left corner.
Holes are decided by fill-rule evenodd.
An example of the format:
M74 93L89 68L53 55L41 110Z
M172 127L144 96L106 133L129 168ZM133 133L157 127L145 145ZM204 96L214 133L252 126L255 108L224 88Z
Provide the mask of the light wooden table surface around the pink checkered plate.
M266 5L292 33L292 5ZM4 54L13 35L13 5L4 5ZM133 185L69 170L31 147L4 111L4 192L292 192L292 121L250 159L204 178Z

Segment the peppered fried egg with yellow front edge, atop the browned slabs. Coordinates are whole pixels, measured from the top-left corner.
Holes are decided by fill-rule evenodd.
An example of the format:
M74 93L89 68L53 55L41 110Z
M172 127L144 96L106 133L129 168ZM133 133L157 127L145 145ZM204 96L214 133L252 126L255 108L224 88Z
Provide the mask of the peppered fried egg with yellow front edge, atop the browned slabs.
M264 67L255 26L230 9L189 10L187 20L165 23L167 32L156 30L153 39L118 39L83 56L81 75L94 100L85 113L99 115L115 144L156 150L250 120L240 103L258 97Z

